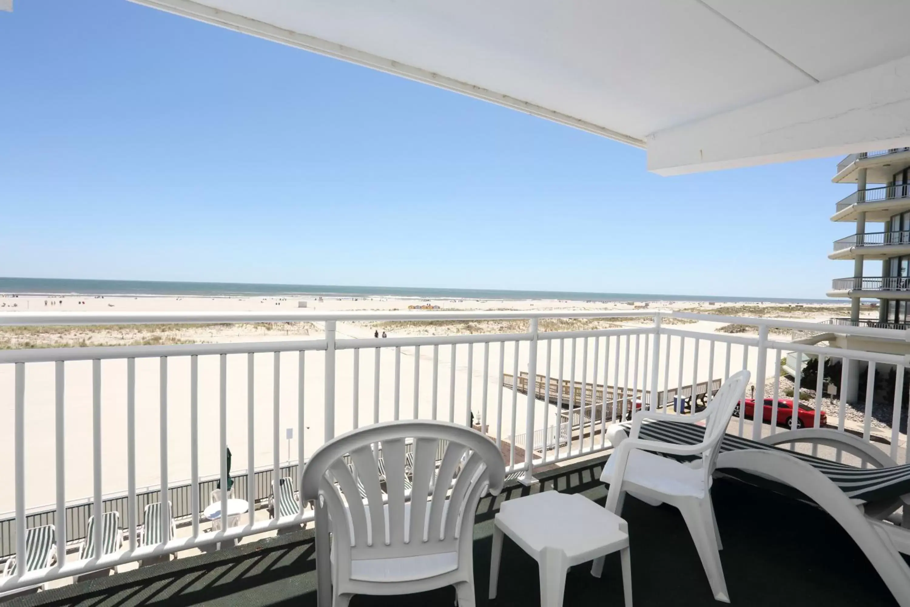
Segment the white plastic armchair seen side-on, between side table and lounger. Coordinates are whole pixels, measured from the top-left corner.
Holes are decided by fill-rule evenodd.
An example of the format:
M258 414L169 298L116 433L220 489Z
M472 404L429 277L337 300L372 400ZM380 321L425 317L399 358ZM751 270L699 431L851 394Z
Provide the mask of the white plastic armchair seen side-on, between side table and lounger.
M721 537L711 502L712 473L723 433L733 417L737 400L743 396L749 377L748 370L735 373L724 382L711 404L701 413L674 415L639 411L632 416L629 438L625 438L622 427L612 426L608 432L615 450L601 474L601 481L610 483L605 507L620 516L626 492L652 505L666 502L679 509L692 534L714 598L723 602L730 602L730 597L723 579L719 553ZM694 445L679 445L640 439L639 431L644 420L685 424L704 421L704 440ZM657 453L700 459L687 464ZM602 569L603 559L597 559L591 566L591 573L600 577Z

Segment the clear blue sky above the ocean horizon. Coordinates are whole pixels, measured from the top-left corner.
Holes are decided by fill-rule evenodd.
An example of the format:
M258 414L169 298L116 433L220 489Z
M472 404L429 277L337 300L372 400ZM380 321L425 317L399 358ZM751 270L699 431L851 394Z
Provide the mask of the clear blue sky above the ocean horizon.
M0 276L822 298L852 274L826 257L854 228L839 158L658 177L123 0L18 0L0 57Z

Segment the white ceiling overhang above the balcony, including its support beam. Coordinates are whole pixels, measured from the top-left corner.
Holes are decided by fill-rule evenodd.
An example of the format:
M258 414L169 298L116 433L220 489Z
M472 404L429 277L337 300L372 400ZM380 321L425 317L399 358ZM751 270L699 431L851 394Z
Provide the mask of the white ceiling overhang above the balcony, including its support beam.
M905 0L136 0L648 152L662 175L910 145Z

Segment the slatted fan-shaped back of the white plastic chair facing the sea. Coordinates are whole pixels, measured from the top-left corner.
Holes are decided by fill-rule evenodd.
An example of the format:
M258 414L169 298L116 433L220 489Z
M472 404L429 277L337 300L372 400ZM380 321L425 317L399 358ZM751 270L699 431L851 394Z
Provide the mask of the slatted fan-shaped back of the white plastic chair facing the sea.
M405 490L406 440L413 441L414 453L410 495ZM440 440L448 445L434 475ZM372 450L377 442L382 444L387 506ZM348 454L353 474L344 460ZM337 577L344 580L350 579L352 559L471 551L477 503L485 490L498 494L504 476L500 450L475 430L442 421L392 421L353 430L319 448L303 472L300 498L325 500ZM434 478L438 481L432 484Z

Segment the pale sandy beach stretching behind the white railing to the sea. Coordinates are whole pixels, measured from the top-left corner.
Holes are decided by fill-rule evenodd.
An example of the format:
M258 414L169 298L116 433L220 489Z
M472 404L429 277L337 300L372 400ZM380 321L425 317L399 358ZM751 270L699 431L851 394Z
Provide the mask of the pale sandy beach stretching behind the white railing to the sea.
M57 303L53 306L50 301ZM689 301L626 302L584 302L565 300L429 300L414 298L283 298L283 297L134 297L134 296L19 296L0 297L0 311L288 311L298 310L298 301L306 300L307 309L301 314L312 312L348 310L406 310L409 305L430 304L441 310L528 310L541 311L561 309L569 311L630 311L641 309L647 313L653 309L678 309L690 311L721 311L723 314L740 312L750 315L761 314L773 318L821 320L832 316L844 316L845 306L796 306L762 303L693 303ZM45 305L45 301L48 302ZM84 302L84 303L79 303ZM15 304L15 307L13 306ZM716 329L723 323L707 321L683 321L680 329L718 335ZM650 324L650 319L581 319L575 321L541 321L541 331L568 329L599 329L608 327L632 327ZM389 337L412 335L440 335L450 333L497 333L520 332L527 329L526 321L439 321L386 322L371 325L365 322L339 322L338 338L370 338L374 331L385 331ZM789 340L788 335L774 336L775 339ZM0 328L0 348L40 348L63 346L126 345L126 344L181 344L197 342L268 341L322 339L322 323L264 323L244 325L168 325L137 327L67 327L67 328ZM581 380L583 340L575 344L575 379ZM604 340L598 340L599 368L598 383L603 383ZM541 341L538 352L538 371L543 373L547 359L548 341ZM705 342L703 342L704 344ZM381 338L378 339L381 345ZM589 339L587 348L587 381L594 374L594 339ZM469 372L469 348L473 349L472 366ZM571 366L571 340L564 346L563 377L569 378ZM610 361L607 383L623 385L626 340L610 339ZM631 365L634 369L635 338L629 346ZM674 338L669 346L671 369L669 385L675 386L678 375L680 339ZM703 350L707 348L704 347ZM402 348L400 351L400 375L398 400L396 400L396 355L394 348L363 349L359 352L359 381L355 387L355 354L353 350L339 351L336 363L336 433L366 425L375 420L391 420L398 410L400 419L411 419L415 406L418 417L432 416L433 358L434 348L420 348L419 395L415 401L415 349ZM379 353L379 363L376 361ZM662 363L659 369L659 386L663 388L663 360L667 352L667 338L661 344ZM718 346L714 354L713 377L723 377L723 348ZM708 378L708 352L702 351L695 374L699 381ZM455 349L440 346L439 373L437 378L437 419L464 422L473 412L475 421L480 421L484 410L484 346L460 345ZM490 435L497 430L503 437L523 433L527 416L526 397L516 395L511 389L503 389L498 377L502 356L503 368L511 373L515 368L513 342L505 344L501 352L498 342L490 344L489 373L487 374L486 420ZM649 355L650 356L650 355ZM227 445L233 453L232 471L248 467L248 355L227 357ZM615 373L615 362L619 364L619 379ZM731 369L740 369L743 364L743 348L731 346ZM769 357L770 358L770 357ZM693 340L688 339L683 354L683 385L693 378ZM273 379L275 355L257 354L254 357L254 445L255 467L270 467L273 460L272 432L274 423L275 395ZM642 372L645 367L643 344L639 351L639 378L642 386ZM522 344L518 353L518 369L528 365L527 344ZM559 342L551 343L551 373L559 373ZM379 391L375 390L375 369L379 365ZM91 361L66 363L66 496L67 500L88 499L92 493L92 373ZM218 358L199 357L199 471L202 476L216 475L218 471ZM748 361L749 369L755 372L755 353ZM278 433L280 436L278 456L282 462L297 460L298 440L298 353L287 352L279 357L278 370L280 387L278 391ZM305 355L304 403L305 428L302 440L308 456L323 441L323 399L324 399L324 354L308 352ZM106 360L101 363L102 372L102 470L103 491L118 493L126 491L126 361ZM160 423L160 362L158 359L136 359L136 484L138 487L156 485L159 479L159 423ZM773 377L773 360L769 359L766 372ZM632 370L629 387L636 381ZM454 375L454 379L453 379ZM470 383L470 402L468 387ZM0 365L0 460L14 460L14 369L13 365ZM173 357L167 364L167 461L168 478L172 484L185 481L190 476L189 468L189 359ZM355 388L358 393L355 406ZM452 389L453 388L453 389ZM50 504L55 499L55 403L54 363L37 363L27 366L25 379L25 445L26 445L26 507L37 508ZM501 399L501 412L499 402ZM515 414L512 403L515 401ZM534 427L541 429L555 423L556 408L538 401L535 407ZM294 429L294 438L285 439L285 431ZM0 512L11 511L14 507L15 486L13 466L0 467L0 486L10 488L0 491Z

